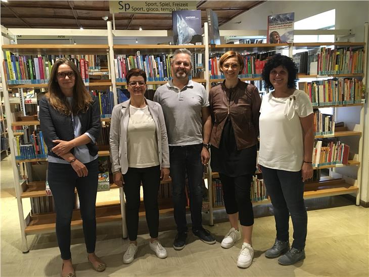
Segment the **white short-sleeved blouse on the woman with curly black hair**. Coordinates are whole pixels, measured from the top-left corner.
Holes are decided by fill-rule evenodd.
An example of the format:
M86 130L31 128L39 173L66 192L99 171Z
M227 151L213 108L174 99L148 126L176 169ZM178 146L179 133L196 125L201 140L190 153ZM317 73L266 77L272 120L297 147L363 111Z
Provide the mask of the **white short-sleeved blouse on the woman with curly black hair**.
M272 169L300 171L304 161L300 117L311 113L312 104L304 91L295 90L284 98L265 95L260 107L258 163Z

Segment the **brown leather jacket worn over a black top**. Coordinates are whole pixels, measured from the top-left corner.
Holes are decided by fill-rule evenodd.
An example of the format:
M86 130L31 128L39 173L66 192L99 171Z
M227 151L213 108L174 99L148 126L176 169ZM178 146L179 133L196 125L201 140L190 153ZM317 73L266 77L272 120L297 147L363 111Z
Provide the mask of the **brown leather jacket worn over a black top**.
M237 149L242 150L254 146L259 135L261 105L259 91L254 85L241 80L232 89L227 89L224 82L211 88L209 93L213 123L210 144L219 148L224 123L229 114L235 132Z

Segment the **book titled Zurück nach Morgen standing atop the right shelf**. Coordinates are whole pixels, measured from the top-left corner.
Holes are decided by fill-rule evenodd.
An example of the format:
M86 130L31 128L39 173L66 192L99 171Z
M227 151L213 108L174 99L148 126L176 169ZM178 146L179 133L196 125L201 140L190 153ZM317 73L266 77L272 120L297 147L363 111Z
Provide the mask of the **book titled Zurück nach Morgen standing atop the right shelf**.
M268 43L292 43L295 13L268 16Z

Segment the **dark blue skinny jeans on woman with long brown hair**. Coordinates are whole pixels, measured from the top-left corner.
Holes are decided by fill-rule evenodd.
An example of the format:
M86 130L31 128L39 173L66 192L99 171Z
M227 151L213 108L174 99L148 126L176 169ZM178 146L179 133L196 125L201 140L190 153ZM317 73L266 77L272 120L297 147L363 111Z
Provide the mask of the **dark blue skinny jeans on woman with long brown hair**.
M84 242L87 253L95 252L96 245L96 193L98 191L98 160L85 164L88 175L78 177L71 165L49 163L48 182L53 193L56 211L56 233L63 260L71 258L70 223L77 188Z

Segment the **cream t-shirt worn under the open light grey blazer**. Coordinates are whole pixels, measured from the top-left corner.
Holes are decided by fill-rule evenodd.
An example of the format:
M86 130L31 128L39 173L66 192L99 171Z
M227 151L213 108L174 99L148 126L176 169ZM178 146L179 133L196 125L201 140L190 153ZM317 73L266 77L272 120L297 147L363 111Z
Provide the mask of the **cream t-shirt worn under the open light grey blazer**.
M127 149L128 167L146 168L160 165L156 126L148 106L129 106Z

